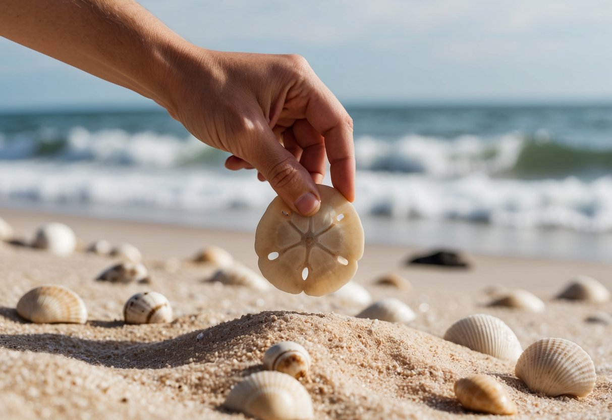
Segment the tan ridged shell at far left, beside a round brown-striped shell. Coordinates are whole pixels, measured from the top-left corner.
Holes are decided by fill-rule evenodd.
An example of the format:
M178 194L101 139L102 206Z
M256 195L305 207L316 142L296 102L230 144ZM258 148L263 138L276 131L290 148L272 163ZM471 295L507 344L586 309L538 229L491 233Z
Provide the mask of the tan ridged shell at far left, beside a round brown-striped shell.
M40 286L28 291L17 302L17 313L38 324L87 322L83 300L63 286Z

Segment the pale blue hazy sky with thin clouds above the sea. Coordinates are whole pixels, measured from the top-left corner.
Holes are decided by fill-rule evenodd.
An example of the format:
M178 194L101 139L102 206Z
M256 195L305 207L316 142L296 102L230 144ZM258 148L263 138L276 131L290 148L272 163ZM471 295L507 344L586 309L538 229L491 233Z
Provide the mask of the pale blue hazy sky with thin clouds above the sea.
M143 0L190 42L297 53L348 104L612 102L608 0ZM0 37L0 110L146 107Z

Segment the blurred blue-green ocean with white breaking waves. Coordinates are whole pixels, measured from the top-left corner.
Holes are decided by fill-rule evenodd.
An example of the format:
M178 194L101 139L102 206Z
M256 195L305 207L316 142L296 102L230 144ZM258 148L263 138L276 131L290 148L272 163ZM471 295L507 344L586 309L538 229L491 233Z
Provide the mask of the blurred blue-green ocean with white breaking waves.
M368 242L612 256L612 105L347 110ZM163 111L4 113L0 208L254 231L275 193L227 156Z

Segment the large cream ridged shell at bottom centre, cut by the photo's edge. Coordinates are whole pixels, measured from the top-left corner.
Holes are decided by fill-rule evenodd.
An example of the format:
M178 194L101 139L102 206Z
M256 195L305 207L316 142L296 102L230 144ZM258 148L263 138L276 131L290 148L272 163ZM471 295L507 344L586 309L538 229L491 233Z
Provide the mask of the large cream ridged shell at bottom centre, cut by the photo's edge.
M223 405L260 420L315 418L308 391L285 373L256 372L231 389Z

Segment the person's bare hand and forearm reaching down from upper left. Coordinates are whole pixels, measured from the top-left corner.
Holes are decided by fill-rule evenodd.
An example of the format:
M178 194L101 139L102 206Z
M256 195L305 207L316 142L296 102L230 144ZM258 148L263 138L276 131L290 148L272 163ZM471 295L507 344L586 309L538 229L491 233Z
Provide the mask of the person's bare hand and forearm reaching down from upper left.
M304 216L315 184L354 200L353 120L298 55L228 53L187 42L131 0L3 0L0 36L159 103L231 153Z

